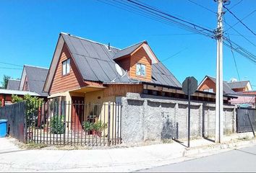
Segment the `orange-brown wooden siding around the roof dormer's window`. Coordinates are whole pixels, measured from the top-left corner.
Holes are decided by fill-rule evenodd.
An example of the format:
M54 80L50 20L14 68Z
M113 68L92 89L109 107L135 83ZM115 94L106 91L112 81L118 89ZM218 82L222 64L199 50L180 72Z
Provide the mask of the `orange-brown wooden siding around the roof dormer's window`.
M146 66L145 77L136 75L137 63L142 63ZM151 59L148 56L148 54L145 52L145 50L143 48L140 48L140 50L137 50L137 52L131 56L129 76L132 79L139 79L141 81L151 81L152 79L151 75L152 75Z

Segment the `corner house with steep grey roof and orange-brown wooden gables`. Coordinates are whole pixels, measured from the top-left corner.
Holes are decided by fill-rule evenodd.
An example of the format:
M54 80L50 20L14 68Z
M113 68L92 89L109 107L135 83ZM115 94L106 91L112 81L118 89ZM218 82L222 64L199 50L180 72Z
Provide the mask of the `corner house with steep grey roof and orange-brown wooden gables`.
M74 126L105 107L92 104L121 102L128 92L161 97L187 98L182 84L158 60L147 41L119 49L61 32L43 92L54 103L72 105L52 115L72 116ZM228 97L223 97L228 102ZM192 99L214 102L215 94L196 92ZM76 106L78 103L78 106ZM85 107L80 107L80 104ZM87 106L88 105L88 106ZM111 108L111 112L112 112ZM99 115L97 115L99 116Z

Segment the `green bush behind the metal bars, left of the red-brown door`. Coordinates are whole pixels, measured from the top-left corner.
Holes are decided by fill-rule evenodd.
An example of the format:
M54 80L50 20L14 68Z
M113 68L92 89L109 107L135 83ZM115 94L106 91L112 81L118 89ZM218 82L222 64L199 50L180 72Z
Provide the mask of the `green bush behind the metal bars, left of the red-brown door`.
M63 134L65 132L64 116L54 115L51 117L51 133Z

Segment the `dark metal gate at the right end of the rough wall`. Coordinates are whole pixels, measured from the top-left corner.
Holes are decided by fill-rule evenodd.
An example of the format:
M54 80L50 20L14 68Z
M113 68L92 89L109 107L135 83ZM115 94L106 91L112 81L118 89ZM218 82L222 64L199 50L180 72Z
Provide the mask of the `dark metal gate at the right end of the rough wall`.
M242 107L237 108L236 109L236 132L237 133L252 132L252 127L249 122L249 117L252 122L252 126L254 130L256 130L255 115L256 115L256 109L242 108Z

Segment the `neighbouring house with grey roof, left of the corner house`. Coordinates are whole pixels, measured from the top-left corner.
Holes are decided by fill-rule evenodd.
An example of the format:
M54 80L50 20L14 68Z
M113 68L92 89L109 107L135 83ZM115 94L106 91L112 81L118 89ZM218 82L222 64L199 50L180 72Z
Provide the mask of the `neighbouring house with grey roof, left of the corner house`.
M48 68L25 65L22 71L19 90L35 92L38 94L38 97L47 99L48 94L43 92L43 85L47 74Z

